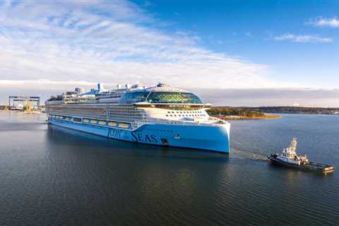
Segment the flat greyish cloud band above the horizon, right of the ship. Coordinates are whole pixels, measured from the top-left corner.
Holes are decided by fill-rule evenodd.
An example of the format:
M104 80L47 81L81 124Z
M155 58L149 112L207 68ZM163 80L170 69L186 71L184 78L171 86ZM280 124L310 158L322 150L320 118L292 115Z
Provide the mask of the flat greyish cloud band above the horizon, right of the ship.
M204 102L216 106L338 107L339 90L304 88L193 90Z

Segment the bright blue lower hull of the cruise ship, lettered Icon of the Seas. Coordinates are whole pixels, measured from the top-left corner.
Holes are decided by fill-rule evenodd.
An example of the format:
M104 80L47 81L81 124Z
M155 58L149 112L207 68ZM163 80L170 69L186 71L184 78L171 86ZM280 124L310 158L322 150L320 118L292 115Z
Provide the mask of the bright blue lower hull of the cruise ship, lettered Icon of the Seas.
M230 152L229 124L222 126L145 124L134 131L57 119L49 119L49 124L122 141Z

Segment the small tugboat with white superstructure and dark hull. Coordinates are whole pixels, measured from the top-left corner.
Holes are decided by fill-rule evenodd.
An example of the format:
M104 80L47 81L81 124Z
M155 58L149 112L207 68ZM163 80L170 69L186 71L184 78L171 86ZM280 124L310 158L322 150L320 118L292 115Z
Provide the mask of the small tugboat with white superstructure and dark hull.
M275 153L270 154L267 157L270 162L276 165L319 172L322 174L329 174L334 172L334 167L331 165L310 162L307 159L307 155L297 155L297 138L293 138L290 146L288 148L284 148L282 154Z

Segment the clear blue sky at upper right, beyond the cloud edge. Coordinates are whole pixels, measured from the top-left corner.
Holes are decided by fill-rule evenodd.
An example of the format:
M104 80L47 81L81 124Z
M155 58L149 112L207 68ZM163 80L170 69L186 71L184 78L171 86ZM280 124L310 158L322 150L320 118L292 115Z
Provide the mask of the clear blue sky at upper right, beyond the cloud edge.
M162 2L160 4L160 2ZM338 88L339 1L154 1L149 8L172 21L172 32L188 30L215 52L269 65L277 81ZM277 42L284 34L329 38L331 42ZM322 78L322 79L319 79Z

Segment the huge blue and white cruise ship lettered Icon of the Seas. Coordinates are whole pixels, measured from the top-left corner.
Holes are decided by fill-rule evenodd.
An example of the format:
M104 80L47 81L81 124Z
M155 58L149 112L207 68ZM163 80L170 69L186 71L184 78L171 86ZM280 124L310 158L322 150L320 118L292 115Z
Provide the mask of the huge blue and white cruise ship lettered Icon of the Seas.
M210 104L186 90L117 85L52 96L46 101L49 124L122 141L230 152L230 124L210 117Z

